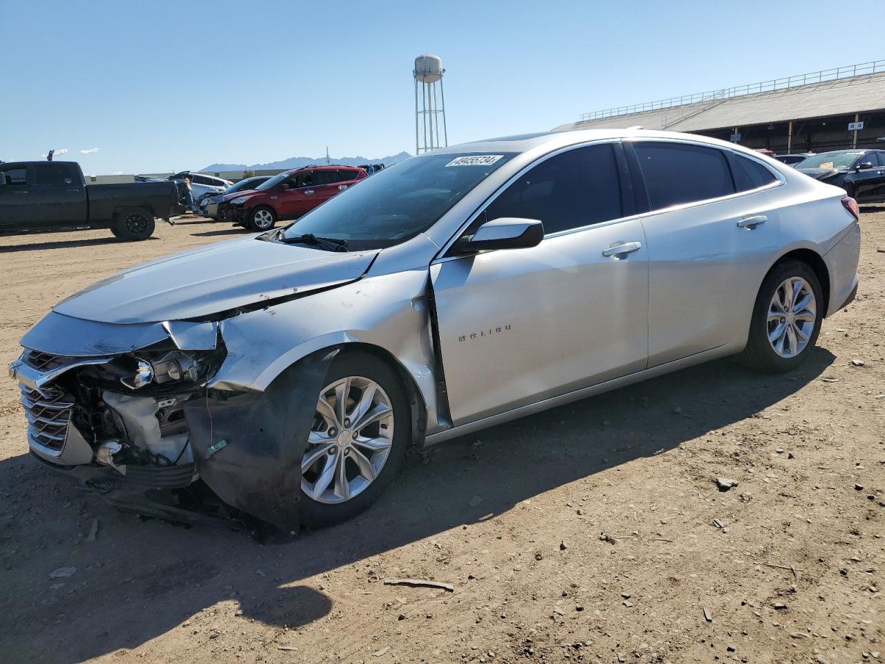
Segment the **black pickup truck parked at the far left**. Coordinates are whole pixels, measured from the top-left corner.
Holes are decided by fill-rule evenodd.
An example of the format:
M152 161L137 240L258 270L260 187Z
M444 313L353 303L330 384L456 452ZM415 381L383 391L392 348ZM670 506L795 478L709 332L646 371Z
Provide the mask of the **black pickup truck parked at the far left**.
M145 240L154 220L181 214L174 182L90 184L73 161L0 162L0 233L110 228Z

